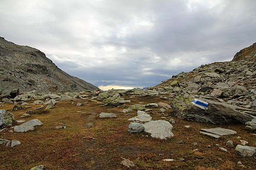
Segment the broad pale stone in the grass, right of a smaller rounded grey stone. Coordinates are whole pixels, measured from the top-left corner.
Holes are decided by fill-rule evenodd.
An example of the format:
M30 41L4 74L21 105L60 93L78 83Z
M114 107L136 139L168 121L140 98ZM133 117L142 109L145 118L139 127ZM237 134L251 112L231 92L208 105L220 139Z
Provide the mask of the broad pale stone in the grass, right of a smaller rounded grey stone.
M165 120L150 121L144 124L144 131L151 133L151 137L166 139L174 136L172 125Z

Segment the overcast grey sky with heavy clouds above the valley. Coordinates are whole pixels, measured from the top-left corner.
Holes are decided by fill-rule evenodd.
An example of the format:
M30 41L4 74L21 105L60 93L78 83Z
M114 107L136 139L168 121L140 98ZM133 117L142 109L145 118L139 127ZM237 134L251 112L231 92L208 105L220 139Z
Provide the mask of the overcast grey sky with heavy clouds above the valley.
M0 0L0 37L96 86L148 87L256 42L256 0Z

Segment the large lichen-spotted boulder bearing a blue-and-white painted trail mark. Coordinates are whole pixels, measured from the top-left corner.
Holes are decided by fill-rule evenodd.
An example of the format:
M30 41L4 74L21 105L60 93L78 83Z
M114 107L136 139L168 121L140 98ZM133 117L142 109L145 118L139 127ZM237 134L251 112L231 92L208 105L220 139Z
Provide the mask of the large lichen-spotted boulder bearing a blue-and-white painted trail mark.
M176 96L170 102L175 116L193 122L206 122L212 124L245 123L251 121L255 116L252 110L235 105L204 99L209 103L208 109L204 110L192 104L192 97Z

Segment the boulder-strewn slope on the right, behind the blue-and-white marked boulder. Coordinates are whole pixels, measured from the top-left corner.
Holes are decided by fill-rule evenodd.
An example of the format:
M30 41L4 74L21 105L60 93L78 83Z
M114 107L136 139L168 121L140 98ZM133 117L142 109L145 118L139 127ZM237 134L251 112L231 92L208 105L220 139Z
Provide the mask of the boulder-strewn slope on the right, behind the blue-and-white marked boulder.
M181 72L154 89L170 98L194 96L247 108L242 112L256 116L256 43L239 51L230 62L214 62Z

